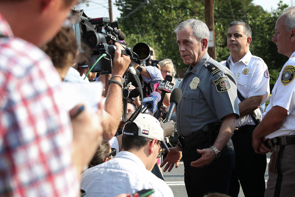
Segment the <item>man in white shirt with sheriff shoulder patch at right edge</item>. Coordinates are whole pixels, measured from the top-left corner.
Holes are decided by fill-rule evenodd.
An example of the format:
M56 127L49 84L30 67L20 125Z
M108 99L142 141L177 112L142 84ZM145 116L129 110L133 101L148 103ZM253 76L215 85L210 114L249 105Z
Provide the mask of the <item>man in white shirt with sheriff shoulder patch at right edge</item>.
M294 196L295 187L294 6L284 10L274 30L272 41L277 45L277 52L289 57L289 60L278 75L262 122L253 132L253 148L257 153L272 153L265 196L288 197Z

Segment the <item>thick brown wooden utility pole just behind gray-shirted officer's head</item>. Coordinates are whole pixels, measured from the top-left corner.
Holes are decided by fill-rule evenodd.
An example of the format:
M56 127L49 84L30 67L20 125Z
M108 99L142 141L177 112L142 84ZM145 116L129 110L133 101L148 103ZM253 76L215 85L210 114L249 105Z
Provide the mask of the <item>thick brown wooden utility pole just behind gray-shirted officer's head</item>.
M214 33L214 0L205 0L205 21L210 31L208 54L211 58L216 59Z

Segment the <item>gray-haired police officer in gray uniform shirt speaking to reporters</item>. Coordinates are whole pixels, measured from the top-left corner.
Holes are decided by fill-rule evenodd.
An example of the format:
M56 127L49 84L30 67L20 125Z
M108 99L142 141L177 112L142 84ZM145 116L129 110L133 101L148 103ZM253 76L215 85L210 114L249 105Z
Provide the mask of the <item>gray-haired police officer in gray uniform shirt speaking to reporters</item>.
M188 196L227 194L235 165L230 137L239 117L237 82L229 69L208 55L209 29L203 21L186 20L174 32L183 63L190 66L179 85L179 144L170 148L161 166L168 162L164 171L171 171L183 157Z

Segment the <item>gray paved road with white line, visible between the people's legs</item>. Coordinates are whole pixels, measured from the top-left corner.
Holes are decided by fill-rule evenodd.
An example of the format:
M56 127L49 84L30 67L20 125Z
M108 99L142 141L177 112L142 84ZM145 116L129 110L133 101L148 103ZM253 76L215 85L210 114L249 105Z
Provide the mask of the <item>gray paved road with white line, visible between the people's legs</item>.
M264 175L265 187L266 187L266 181L268 179L267 169L268 169L269 157L270 157L270 153L267 154L267 166L266 166L266 172ZM164 169L164 167L162 169ZM184 185L183 172L184 172L184 166L182 161L179 163L178 168L173 168L171 172L168 172L168 171L163 172L165 182L169 185L175 197L187 197L187 192L185 190L185 185ZM240 187L240 193L238 197L245 197L241 187Z

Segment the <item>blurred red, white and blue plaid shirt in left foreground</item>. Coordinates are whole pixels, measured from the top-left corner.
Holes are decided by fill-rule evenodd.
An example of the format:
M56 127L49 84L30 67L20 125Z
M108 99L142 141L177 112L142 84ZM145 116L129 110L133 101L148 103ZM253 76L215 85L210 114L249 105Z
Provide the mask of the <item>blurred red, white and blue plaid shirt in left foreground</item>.
M14 37L0 14L0 196L77 196L60 81L48 56Z

